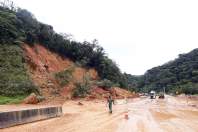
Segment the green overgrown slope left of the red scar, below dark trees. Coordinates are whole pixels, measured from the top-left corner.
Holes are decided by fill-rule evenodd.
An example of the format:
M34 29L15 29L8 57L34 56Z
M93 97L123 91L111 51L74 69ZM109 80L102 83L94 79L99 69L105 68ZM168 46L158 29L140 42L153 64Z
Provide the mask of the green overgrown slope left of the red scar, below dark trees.
M0 44L0 95L13 96L37 92L31 82L18 45Z

